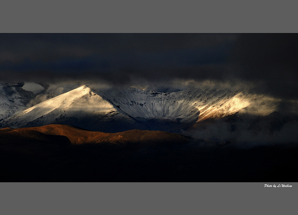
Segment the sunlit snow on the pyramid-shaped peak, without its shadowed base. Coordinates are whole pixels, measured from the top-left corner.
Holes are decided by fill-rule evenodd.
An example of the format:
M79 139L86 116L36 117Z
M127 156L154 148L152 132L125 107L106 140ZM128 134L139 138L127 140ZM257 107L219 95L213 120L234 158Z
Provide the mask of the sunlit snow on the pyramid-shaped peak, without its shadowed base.
M41 126L53 124L64 118L89 121L92 118L103 118L111 112L112 115L119 113L111 103L91 91L89 87L81 86L13 114L5 119L2 127L26 127L30 123Z

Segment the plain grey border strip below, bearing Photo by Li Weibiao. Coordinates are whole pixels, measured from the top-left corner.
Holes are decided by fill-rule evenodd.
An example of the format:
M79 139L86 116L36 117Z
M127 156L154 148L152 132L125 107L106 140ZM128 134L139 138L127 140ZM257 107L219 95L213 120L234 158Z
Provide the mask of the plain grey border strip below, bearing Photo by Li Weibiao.
M3 214L296 214L298 183L0 183ZM274 184L279 183L266 183Z

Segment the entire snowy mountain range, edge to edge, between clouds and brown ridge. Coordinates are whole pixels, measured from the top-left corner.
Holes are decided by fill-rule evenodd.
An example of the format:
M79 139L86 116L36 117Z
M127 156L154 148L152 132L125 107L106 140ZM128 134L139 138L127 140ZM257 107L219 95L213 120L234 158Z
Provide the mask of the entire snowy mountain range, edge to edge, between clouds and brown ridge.
M210 84L175 92L78 83L15 83L1 88L2 128L66 124L102 132L161 130L226 142L244 140L249 133L279 135L286 127L291 131L298 115L294 100Z

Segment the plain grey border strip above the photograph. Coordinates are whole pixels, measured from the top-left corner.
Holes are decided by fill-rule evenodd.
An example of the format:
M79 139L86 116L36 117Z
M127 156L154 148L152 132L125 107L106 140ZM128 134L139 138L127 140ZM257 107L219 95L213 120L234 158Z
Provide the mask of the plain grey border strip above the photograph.
M297 33L294 1L1 1L9 33Z

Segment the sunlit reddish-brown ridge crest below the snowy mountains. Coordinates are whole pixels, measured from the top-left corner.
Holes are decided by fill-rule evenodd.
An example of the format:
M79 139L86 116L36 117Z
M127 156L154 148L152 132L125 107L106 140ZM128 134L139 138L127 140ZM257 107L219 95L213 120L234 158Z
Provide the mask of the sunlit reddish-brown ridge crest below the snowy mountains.
M3 128L0 129L0 138L6 132L21 132L35 131L44 135L60 135L67 137L72 144L90 144L90 143L188 143L192 139L190 137L162 132L162 131L148 131L148 130L128 130L117 133L93 132L69 125L45 125L41 127L30 128ZM29 135L29 133L28 133ZM34 134L32 133L32 137Z

